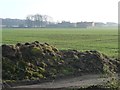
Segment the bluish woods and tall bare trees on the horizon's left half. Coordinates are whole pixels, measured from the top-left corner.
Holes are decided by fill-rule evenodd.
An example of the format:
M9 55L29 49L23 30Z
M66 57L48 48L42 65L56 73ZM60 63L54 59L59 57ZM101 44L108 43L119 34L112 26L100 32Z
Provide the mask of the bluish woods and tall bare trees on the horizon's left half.
M50 24L52 17L48 15L28 15L26 19L2 19L2 27L46 27L47 24Z

